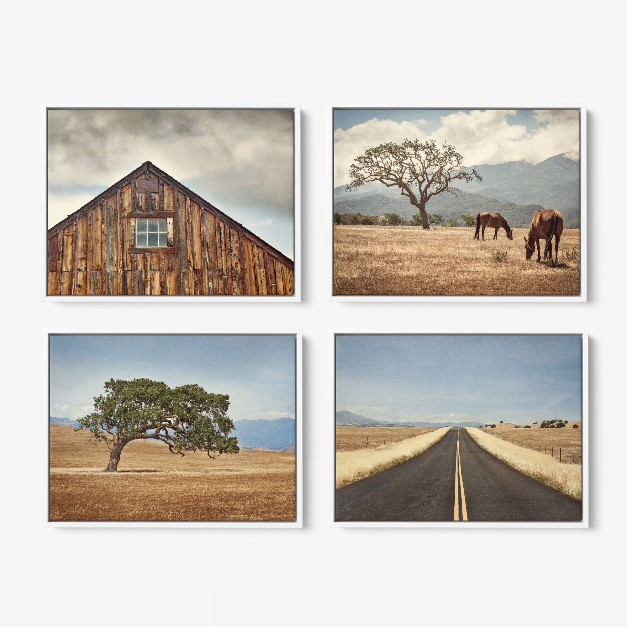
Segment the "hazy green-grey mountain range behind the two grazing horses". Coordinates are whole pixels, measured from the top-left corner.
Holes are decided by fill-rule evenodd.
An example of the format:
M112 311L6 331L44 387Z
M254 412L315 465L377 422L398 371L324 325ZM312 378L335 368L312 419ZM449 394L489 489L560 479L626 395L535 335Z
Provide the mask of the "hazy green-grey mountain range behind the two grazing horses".
M457 196L440 194L429 199L428 213L443 218L460 219L461 214L475 215L480 211L500 213L512 228L529 226L539 209L558 209L564 221L580 218L579 161L566 155L555 155L532 166L524 161L510 161L495 166L475 166L483 177L481 183L461 183ZM366 183L360 192L347 192L345 186L334 189L334 211L383 215L396 213L411 219L418 210L399 187Z

